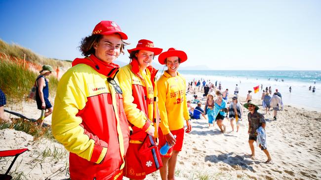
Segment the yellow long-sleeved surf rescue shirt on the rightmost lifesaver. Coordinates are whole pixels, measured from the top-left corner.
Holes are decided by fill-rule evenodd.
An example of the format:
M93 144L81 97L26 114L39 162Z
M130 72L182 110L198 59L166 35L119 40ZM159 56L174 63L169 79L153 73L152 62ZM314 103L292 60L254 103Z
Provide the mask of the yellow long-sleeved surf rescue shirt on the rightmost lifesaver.
M170 130L184 127L184 120L189 120L190 115L186 102L186 81L177 72L172 77L166 71L157 81L159 109L161 116L161 131L168 134Z

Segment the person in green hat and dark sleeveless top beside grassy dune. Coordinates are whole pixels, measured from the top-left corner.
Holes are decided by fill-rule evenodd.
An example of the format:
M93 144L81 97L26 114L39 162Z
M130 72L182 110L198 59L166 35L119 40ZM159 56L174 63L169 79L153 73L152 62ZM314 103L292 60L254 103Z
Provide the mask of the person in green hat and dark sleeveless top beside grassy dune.
M40 118L37 123L42 126L43 119L52 114L53 108L48 99L49 97L49 80L46 76L50 75L53 71L52 67L48 64L43 65L39 71L40 75L36 78L36 102L37 108L41 110ZM47 112L45 112L48 110Z

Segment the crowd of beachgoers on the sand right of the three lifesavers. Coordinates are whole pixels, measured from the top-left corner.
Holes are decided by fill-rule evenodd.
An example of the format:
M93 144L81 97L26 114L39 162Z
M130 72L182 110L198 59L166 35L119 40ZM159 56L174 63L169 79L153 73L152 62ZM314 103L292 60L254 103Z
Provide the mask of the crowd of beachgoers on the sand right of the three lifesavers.
M211 83L209 80L205 81L203 79L198 81L193 80L189 83L187 92L194 94L194 99L187 101L192 119L199 120L202 116L204 119L208 120L208 127L215 126L216 122L221 133L226 132L226 125L223 123L223 120L227 119L230 121L232 132L235 130L235 121L236 132L239 132L240 126L244 123L242 121L242 107L245 107L249 110L247 115L249 122L248 143L251 150L251 157L255 156L253 143L258 140L259 147L267 155L268 159L266 163L272 163L272 158L266 146L265 118L263 114L257 112L259 108L252 101L252 91L248 90L245 103L242 106L238 97L238 84L235 87L234 96L231 101L228 99L228 89L222 92L221 82L219 82L218 86L217 81L215 84ZM263 85L261 85L261 89L262 88ZM202 89L203 97L199 98L196 93L201 92ZM265 110L265 114L270 114L270 108L272 108L274 115L273 120L277 120L277 112L283 109L282 96L278 89L275 90L272 97L270 94L272 94L272 88L266 87L262 93L262 106ZM204 108L202 108L200 99L205 101L203 103ZM197 104L197 106L193 107L192 104Z

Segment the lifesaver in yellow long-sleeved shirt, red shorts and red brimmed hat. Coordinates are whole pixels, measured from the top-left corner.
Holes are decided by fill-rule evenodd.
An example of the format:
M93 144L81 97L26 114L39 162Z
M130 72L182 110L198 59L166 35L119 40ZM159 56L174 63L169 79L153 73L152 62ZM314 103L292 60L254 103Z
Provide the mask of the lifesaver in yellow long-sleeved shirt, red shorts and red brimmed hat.
M158 60L167 66L167 70L157 82L161 115L159 148L166 142L172 146L167 154L161 156L163 167L160 173L162 180L173 180L177 156L183 146L184 121L187 125L185 132L189 133L192 130L185 95L186 81L178 72L179 65L187 60L187 55L184 51L169 48L161 53Z

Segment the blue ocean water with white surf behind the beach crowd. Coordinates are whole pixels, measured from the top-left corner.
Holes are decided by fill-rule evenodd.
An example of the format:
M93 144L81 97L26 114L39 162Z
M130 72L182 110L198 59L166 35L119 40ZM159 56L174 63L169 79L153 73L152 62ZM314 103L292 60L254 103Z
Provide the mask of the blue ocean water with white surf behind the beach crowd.
M248 70L181 70L179 71L187 82L205 79L217 86L221 82L223 90L229 89L233 94L238 84L239 94L246 97L252 90L252 98L261 99L266 87L276 89L282 95L284 105L321 112L321 71L248 71ZM276 81L278 79L278 81ZM283 81L281 81L283 80ZM260 86L260 91L254 93L253 87ZM309 91L309 86L316 87L316 92ZM292 92L289 92L289 87ZM245 99L244 99L245 100Z

